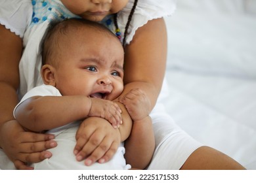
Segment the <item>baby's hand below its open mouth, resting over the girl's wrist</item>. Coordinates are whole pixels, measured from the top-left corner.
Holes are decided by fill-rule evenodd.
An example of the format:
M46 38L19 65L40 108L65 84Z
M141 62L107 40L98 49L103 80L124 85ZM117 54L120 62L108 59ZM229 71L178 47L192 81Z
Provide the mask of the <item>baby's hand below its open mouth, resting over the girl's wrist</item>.
M91 101L91 109L88 116L104 118L108 120L114 128L122 124L121 108L116 103L98 98L91 98Z

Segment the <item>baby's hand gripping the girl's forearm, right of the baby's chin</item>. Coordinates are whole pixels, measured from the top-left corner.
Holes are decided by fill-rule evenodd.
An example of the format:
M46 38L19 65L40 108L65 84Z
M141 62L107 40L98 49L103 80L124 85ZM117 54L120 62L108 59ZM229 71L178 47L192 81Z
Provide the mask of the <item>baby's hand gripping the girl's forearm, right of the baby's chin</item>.
M139 88L126 93L118 101L125 105L133 121L142 120L150 114L150 100Z

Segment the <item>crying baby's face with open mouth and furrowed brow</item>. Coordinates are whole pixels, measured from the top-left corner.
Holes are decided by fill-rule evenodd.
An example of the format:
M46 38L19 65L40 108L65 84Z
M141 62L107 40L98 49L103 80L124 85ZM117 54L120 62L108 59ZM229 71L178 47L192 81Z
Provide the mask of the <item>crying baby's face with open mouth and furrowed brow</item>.
M123 47L116 37L76 31L62 39L56 88L62 95L116 99L123 91Z

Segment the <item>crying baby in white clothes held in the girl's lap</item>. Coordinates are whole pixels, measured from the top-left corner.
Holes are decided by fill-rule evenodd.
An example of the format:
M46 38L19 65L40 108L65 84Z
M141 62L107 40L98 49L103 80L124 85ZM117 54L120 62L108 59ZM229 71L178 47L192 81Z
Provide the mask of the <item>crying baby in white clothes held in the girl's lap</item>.
M58 146L51 149L52 158L34 163L34 169L130 169L125 163L125 149L121 142L121 108L113 102L123 91L123 58L121 42L103 25L82 19L64 20L50 27L42 46L41 76L44 84L30 90L14 109L18 122L30 131L47 131L56 136ZM139 101L141 108L149 104L140 90L131 90L134 103ZM129 98L131 99L131 98ZM137 112L138 106L125 104L133 120L150 120L148 110ZM131 103L131 104L134 104ZM138 104L139 105L139 104ZM110 141L112 148L119 146L110 161L99 159L92 163L90 159L76 157L77 143L75 133L82 120L88 116L100 117L110 124L95 124L91 134L102 135L97 125L104 125L102 141L108 141L113 129L116 141ZM121 125L122 126L122 125ZM110 133L106 133L110 131ZM81 142L81 141L80 141ZM95 142L97 143L97 142ZM80 143L82 148L94 152L96 144ZM74 155L75 154L75 155ZM89 156L89 154L88 154ZM87 165L87 166L85 166ZM91 165L91 166L89 166Z

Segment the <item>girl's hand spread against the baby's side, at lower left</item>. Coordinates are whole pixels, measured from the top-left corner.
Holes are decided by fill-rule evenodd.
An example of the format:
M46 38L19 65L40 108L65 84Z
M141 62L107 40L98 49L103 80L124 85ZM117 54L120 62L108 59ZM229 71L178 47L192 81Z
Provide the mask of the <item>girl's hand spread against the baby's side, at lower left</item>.
M51 152L46 150L57 145L51 141L54 135L24 131L16 120L5 122L1 126L0 134L1 147L14 162L16 169L33 169L27 163L51 158Z

